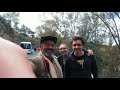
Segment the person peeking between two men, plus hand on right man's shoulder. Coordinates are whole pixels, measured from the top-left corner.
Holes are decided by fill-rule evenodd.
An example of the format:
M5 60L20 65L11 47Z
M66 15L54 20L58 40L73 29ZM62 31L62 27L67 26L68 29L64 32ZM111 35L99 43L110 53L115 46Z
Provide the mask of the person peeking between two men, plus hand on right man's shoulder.
M86 50L84 48L83 51L87 52L88 56L93 55L92 50ZM66 59L69 55L67 44L61 43L60 46L59 46L59 52L60 52L61 55L58 56L58 62L60 64L61 68L62 68L63 77L65 77L65 62L66 62Z

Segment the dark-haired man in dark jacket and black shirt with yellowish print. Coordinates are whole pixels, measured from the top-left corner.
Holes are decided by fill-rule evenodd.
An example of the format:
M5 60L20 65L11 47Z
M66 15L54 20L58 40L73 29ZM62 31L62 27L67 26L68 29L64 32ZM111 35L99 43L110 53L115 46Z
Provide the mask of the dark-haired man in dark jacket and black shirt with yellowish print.
M73 37L72 49L65 64L65 78L98 78L97 65L93 55L88 56L80 36Z

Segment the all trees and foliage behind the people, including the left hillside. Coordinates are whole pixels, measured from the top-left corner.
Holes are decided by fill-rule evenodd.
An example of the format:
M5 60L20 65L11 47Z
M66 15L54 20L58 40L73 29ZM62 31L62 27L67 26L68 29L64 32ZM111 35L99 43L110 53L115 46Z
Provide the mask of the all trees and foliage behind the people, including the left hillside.
M58 38L55 55L59 55L58 47L65 42L69 51L71 39L81 35L85 48L92 49L101 78L120 77L120 28L116 18L119 12L50 12L51 19L44 19L36 28L36 34L24 24L19 28L19 13L8 12L0 16L0 36L19 44L30 41L34 48L40 46L42 36L51 35ZM14 24L12 26L11 22ZM114 45L115 43L115 45Z

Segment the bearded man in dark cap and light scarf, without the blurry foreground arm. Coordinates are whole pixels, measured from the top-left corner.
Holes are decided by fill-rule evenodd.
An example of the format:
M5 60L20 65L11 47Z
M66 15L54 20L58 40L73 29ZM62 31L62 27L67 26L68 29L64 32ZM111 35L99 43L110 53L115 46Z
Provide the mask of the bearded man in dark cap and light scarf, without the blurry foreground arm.
M36 59L31 60L34 73L38 78L62 78L62 69L57 57L53 55L55 50L56 37L41 37L40 52Z

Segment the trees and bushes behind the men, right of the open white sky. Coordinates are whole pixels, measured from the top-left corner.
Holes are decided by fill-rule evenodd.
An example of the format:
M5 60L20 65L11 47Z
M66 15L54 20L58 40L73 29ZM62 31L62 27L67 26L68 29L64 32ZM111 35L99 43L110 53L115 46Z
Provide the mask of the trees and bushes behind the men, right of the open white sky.
M37 28L39 36L45 35L44 33L48 31L50 35L53 35L53 31L56 31L71 48L71 38L74 35L81 35L87 43L86 47L94 51L100 76L117 77L120 75L118 71L120 29L116 23L116 18L120 19L119 13L51 12L49 14L52 18L45 19L44 23ZM113 48L113 41L117 49L116 46Z

